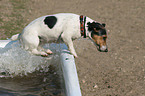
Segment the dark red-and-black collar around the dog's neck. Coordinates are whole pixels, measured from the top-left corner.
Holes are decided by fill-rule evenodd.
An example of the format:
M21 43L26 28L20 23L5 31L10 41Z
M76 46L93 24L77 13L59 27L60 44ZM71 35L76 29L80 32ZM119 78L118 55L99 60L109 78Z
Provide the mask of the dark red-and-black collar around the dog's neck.
M85 23L86 23L86 16L81 15L80 16L80 29L81 29L81 36L83 36L84 38L86 38Z

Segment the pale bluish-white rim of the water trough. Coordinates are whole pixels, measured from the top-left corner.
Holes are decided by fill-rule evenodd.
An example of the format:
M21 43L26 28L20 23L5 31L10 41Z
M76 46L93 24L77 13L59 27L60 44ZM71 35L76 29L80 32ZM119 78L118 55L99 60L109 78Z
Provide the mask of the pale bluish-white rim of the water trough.
M0 48L8 47L13 42L15 41L0 40ZM60 58L66 96L82 96L73 55L64 49Z

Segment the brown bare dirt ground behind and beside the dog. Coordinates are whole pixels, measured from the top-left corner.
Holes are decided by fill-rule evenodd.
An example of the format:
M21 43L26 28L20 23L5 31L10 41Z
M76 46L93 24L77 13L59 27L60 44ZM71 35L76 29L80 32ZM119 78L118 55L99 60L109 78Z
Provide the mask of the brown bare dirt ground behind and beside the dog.
M9 1L0 0L5 14L11 12ZM98 52L88 39L74 41L83 96L145 96L144 0L26 0L24 5L23 27L40 16L63 12L106 23L109 52ZM4 30L1 38L7 37Z

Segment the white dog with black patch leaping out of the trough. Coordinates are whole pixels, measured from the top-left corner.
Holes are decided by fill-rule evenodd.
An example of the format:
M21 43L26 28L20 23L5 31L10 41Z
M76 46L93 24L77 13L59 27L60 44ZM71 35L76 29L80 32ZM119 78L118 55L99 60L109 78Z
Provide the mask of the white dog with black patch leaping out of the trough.
M70 53L78 57L73 46L73 40L90 38L100 52L107 52L107 31L104 23L98 23L89 17L73 13L58 13L39 17L28 24L20 34L13 35L11 40L19 40L22 47L32 54L48 56L49 49L42 46L45 43L59 41L68 46Z

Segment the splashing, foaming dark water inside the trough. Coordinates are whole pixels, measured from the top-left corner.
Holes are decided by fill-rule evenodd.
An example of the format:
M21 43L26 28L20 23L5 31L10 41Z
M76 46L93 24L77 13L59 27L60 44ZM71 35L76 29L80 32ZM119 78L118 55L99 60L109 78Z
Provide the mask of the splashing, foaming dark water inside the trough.
M0 96L64 96L59 67L61 45L46 45L54 54L31 55L18 42L0 48Z

